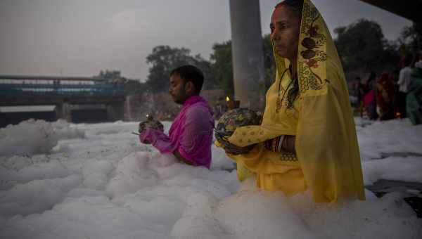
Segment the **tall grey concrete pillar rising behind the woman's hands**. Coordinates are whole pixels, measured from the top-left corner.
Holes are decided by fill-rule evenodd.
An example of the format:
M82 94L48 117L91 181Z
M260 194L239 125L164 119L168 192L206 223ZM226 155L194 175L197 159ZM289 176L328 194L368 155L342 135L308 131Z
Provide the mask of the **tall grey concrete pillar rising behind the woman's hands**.
M230 0L234 94L241 107L264 110L264 53L259 0Z

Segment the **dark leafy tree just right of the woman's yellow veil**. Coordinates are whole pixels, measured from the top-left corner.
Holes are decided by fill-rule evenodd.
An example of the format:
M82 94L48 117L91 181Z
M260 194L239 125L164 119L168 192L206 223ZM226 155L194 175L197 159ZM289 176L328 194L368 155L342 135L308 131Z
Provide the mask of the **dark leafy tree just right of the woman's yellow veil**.
M338 27L335 45L347 79L368 72L381 72L397 64L395 46L388 42L377 22L360 19L347 27Z

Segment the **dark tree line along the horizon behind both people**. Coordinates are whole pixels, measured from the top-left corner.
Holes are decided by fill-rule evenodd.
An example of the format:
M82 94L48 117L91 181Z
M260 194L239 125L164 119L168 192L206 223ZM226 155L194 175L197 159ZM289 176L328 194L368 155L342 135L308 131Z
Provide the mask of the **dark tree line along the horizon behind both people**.
M414 24L404 27L395 41L385 39L381 26L372 20L360 19L345 27L334 30L334 39L340 60L343 63L347 80L365 77L369 72L397 73L399 58L422 49L422 26ZM275 75L275 65L269 34L262 37L264 51L265 82L271 83ZM127 94L151 91L158 93L167 91L170 71L181 65L196 65L203 70L205 82L203 89L224 89L231 95L234 93L233 67L231 58L231 41L216 43L212 46L210 60L202 56L192 55L190 49L171 46L155 46L146 57L151 65L148 77L142 83L139 80L127 79L120 71L101 71L97 77L106 79L119 78L124 84ZM269 86L269 85L267 85Z

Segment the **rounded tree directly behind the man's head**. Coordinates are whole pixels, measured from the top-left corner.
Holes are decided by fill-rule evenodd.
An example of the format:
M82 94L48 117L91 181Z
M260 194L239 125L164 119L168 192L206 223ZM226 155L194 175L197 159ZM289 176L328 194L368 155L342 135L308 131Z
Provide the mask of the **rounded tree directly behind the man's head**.
M146 63L151 64L146 84L153 92L162 92L169 89L169 75L174 68L181 65L195 65L203 71L205 81L203 88L215 86L215 77L211 64L199 54L190 56L191 50L172 48L170 46L155 46L153 52L146 57Z

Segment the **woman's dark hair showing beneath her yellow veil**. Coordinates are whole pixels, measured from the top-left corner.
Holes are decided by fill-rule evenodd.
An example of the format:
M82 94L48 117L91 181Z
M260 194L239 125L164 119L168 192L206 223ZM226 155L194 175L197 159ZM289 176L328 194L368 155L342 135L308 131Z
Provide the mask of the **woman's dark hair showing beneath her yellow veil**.
M279 8L281 6L286 6L290 9L295 15L302 20L302 8L303 8L303 0L284 0L281 3L277 4L275 8ZM300 24L300 22L299 22ZM281 79L280 79L281 80ZM287 108L293 108L293 102L295 99L298 98L299 95L299 81L298 77L293 79L293 87L287 93Z

